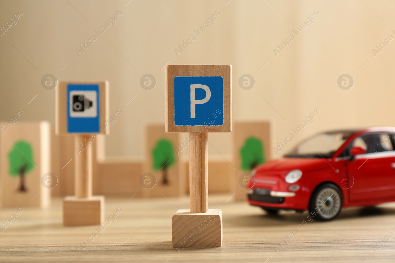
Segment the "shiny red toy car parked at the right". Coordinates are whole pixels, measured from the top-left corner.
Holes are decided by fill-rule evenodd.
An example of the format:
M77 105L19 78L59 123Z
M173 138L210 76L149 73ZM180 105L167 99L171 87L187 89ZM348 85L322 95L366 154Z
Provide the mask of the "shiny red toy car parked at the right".
M308 209L331 220L342 207L395 201L394 134L395 127L375 127L308 138L256 170L248 202L268 213Z

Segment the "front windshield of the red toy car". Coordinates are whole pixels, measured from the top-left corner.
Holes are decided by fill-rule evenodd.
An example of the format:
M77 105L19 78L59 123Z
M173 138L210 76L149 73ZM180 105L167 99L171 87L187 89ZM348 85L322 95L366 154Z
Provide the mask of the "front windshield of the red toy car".
M353 133L336 131L317 134L301 142L285 157L330 158Z

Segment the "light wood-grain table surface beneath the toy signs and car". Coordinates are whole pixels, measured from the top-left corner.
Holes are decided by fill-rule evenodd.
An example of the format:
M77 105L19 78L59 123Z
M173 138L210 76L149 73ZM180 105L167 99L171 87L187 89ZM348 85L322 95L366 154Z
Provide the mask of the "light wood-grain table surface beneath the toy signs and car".
M395 203L303 224L307 213L265 215L244 202L225 203L229 197L209 196L209 208L223 213L220 248L171 247L171 216L189 208L187 197L106 198L105 218L118 207L122 212L101 232L63 227L61 200L54 199L49 209L26 207L11 218L15 222L0 233L0 262L395 262ZM0 209L0 224L16 210Z

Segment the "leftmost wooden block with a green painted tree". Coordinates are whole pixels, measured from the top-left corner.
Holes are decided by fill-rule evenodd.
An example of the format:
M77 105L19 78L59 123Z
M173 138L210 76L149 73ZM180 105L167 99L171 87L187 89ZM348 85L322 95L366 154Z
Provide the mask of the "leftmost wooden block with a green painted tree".
M51 173L51 125L2 122L0 134L2 207L48 207L57 183Z

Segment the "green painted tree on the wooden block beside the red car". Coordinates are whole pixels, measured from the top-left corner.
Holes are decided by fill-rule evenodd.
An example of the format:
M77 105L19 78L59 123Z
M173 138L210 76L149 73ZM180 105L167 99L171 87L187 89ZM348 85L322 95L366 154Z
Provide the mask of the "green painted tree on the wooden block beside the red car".
M250 172L265 161L263 145L260 139L249 137L240 149L241 169Z

